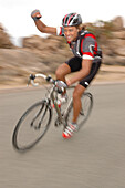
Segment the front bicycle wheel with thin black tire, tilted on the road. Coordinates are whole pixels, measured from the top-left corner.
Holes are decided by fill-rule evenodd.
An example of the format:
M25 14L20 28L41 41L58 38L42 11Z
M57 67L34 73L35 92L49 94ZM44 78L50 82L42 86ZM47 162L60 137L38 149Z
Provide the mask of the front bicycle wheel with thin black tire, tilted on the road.
M51 118L52 108L46 101L41 101L33 104L21 116L13 130L12 135L13 147L19 152L25 152L32 148L46 133ZM25 132L28 130L28 133L25 133L24 130ZM33 136L31 135L31 130L35 132L37 134L35 138L33 138ZM27 140L29 138L32 138L32 142ZM22 144L21 142L22 143L24 142L24 144Z

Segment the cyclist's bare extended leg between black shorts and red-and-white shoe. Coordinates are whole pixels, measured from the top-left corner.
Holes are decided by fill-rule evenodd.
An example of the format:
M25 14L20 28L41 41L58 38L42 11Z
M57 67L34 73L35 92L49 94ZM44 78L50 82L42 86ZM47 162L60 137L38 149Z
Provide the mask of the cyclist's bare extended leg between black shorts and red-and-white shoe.
M76 123L76 121L77 121L77 117L79 117L79 114L80 114L80 111L81 111L81 107L82 107L81 96L84 93L84 91L85 91L85 87L80 85L80 84L74 88L74 92L73 92L73 119L72 119L72 123Z

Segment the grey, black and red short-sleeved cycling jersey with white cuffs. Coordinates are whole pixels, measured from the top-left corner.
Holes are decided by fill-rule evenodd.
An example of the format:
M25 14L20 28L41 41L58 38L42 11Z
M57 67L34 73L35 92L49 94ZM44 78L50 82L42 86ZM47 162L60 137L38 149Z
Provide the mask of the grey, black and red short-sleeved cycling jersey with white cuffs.
M64 36L64 28L60 27L56 31L58 35ZM81 30L79 32L77 39L67 43L75 56L87 60L102 58L102 51L97 45L96 38L86 30Z

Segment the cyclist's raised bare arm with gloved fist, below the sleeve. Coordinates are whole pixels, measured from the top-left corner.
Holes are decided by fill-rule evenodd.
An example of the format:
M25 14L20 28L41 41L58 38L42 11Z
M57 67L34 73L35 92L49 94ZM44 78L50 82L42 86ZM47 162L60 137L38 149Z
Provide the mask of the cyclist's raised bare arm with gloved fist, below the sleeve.
M42 33L50 33L56 35L56 28L45 25L40 18L42 17L39 10L33 10L31 13L32 19L39 31Z

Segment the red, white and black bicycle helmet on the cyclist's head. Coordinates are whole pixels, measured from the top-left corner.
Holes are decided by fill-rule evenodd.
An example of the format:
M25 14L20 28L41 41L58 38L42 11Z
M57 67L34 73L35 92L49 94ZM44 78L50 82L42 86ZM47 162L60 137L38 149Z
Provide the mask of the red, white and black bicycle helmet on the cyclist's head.
M76 27L82 23L82 18L77 13L69 13L62 20L63 27Z

